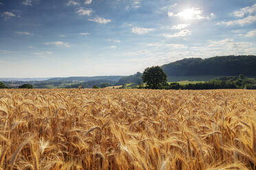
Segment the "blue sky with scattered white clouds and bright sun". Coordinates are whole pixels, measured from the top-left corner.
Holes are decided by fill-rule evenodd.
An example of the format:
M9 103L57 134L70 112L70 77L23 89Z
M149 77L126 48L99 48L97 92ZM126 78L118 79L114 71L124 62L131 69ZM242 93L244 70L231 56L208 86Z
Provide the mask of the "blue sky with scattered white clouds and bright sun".
M0 77L131 75L256 55L255 0L0 0Z

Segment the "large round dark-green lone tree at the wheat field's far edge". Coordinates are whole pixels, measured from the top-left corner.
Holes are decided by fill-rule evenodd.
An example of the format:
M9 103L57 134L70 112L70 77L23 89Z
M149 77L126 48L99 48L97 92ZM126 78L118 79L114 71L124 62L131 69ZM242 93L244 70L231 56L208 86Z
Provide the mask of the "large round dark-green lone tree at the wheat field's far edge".
M145 69L142 79L147 84L146 88L161 89L167 86L167 74L160 66L151 66Z

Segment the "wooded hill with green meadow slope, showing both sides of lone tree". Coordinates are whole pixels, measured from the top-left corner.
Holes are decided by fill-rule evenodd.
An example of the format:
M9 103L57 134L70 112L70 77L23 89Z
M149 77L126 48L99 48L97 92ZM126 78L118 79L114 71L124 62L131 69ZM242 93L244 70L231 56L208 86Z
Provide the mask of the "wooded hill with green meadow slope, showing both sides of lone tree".
M185 58L161 66L169 82L182 80L209 81L217 77L245 75L256 77L256 56L217 56ZM140 84L142 73L122 77L116 84Z

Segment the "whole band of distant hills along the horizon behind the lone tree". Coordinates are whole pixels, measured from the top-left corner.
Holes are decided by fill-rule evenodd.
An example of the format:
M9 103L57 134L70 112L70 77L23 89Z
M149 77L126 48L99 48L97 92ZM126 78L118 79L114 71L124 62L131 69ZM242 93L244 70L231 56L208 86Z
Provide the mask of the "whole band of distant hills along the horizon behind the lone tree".
M213 58L185 58L161 66L168 75L169 82L182 80L209 81L218 77L245 75L256 77L256 56L217 56ZM146 69L146 68L145 68ZM6 86L17 87L21 84L32 84L35 88L92 88L142 83L142 73L129 76L94 76L94 77L54 77L45 79L12 79L1 80Z

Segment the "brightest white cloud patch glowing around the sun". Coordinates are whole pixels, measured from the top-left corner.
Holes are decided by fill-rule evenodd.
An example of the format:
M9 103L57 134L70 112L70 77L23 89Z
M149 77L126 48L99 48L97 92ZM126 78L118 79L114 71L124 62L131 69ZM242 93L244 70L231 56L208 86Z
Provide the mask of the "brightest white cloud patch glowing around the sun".
M178 14L173 14L173 12L168 12L168 16L179 16L180 18L185 19L185 20L209 19L209 16L202 16L202 10L200 10L199 8L189 8L182 12L179 12Z

